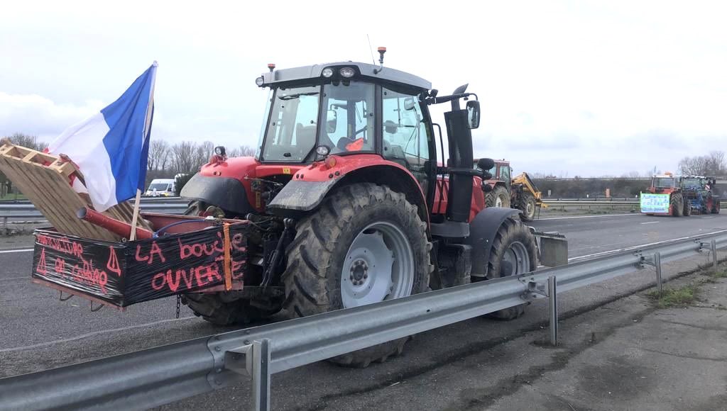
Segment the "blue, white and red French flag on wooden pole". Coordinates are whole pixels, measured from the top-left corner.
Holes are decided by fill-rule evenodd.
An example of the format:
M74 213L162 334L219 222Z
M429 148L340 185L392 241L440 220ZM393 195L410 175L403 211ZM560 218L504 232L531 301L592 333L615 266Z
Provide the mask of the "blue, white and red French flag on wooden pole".
M105 211L143 190L154 113L154 62L115 102L63 131L48 152L67 155L84 176L73 180L88 192L97 211ZM85 185L85 187L84 187Z

